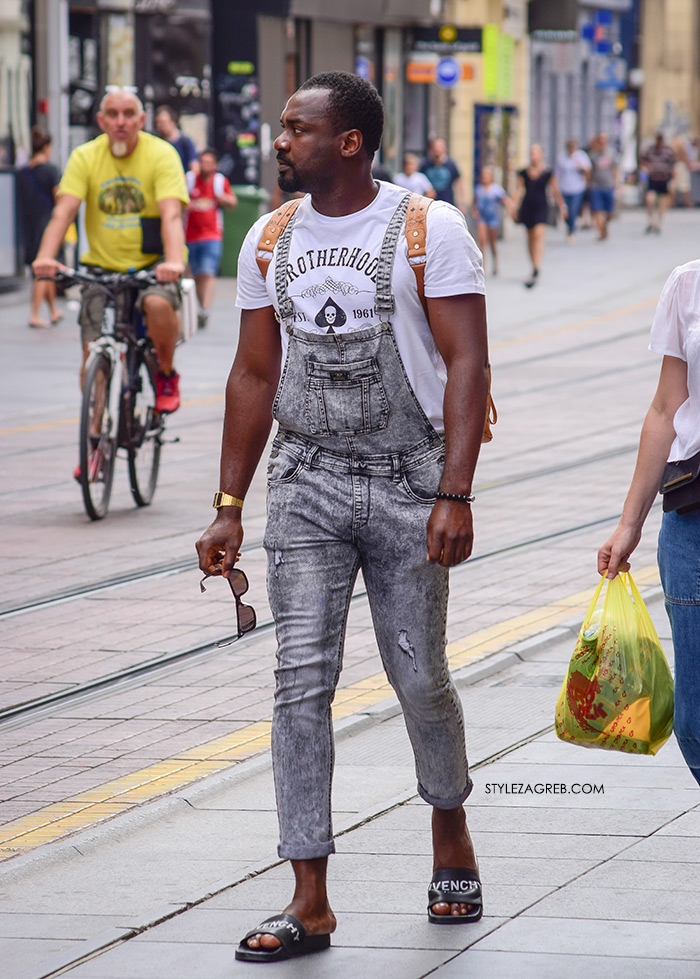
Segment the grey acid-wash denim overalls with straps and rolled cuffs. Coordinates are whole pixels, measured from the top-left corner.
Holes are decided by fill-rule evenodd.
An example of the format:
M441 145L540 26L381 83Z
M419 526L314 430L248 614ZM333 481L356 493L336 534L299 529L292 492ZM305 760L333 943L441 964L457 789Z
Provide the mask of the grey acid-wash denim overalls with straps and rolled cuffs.
M268 591L278 665L272 759L281 857L333 853L331 702L348 605L362 569L377 642L401 702L418 791L442 809L469 795L464 720L445 655L448 570L426 560L444 442L406 376L390 323L391 273L408 195L382 244L375 306L385 321L345 334L295 327L277 246L289 346L268 467Z

